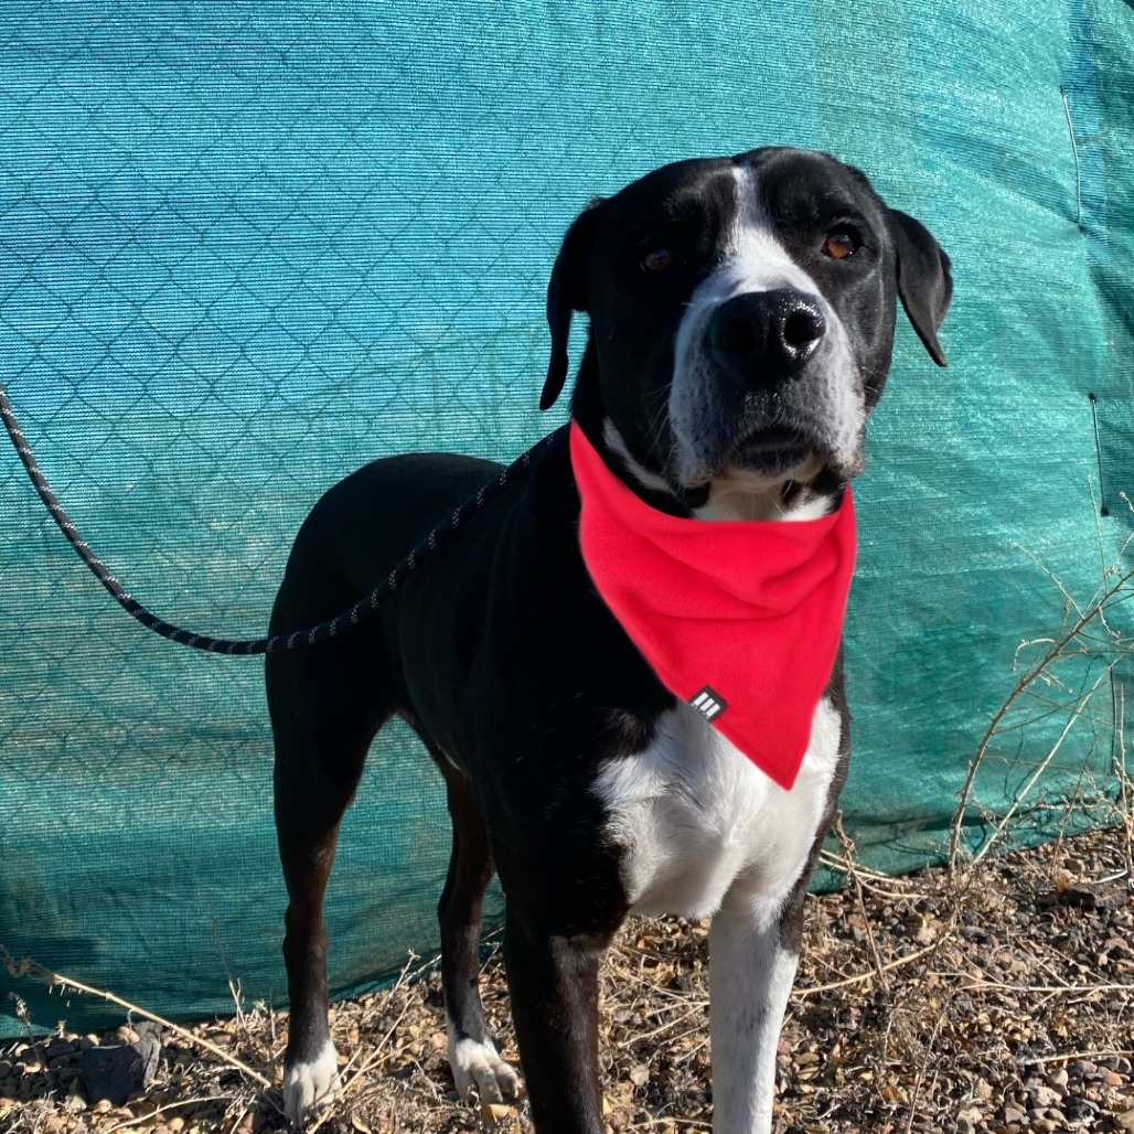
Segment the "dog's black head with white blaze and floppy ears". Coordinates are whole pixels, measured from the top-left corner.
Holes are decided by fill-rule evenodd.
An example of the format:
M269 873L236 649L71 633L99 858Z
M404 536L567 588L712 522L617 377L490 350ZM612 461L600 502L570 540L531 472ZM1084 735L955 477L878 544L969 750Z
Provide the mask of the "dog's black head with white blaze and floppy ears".
M568 230L541 408L564 387L572 314L585 312L574 411L592 440L691 510L778 513L862 468L898 298L945 365L951 291L930 232L827 154L666 166Z

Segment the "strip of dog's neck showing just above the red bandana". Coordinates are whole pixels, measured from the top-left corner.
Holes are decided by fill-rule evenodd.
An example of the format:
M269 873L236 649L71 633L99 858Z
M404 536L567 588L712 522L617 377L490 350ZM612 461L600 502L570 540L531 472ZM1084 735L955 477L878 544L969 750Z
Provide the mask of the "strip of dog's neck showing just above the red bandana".
M674 516L710 522L818 519L832 513L843 499L844 483L822 473L807 483L787 480L769 484L742 472L678 493L634 457L609 417L603 417L596 430L584 429L615 473L651 507Z

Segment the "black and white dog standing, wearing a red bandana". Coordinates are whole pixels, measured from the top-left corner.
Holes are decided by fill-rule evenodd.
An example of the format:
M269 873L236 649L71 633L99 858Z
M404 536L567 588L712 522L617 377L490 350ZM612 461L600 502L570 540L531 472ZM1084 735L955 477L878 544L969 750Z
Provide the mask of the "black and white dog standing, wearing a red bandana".
M943 365L950 295L930 232L833 158L762 149L678 162L594 202L567 232L541 405L562 389L572 314L585 312L574 418L638 497L705 522L822 516L863 466L897 299ZM352 606L498 472L413 455L347 477L299 532L272 633ZM602 1131L599 962L638 912L712 915L713 1129L771 1127L804 892L846 773L841 666L784 790L654 676L589 578L578 510L564 430L372 620L268 658L290 898L284 1095L298 1124L338 1084L322 902L339 821L371 741L398 714L435 760L452 816L439 916L460 1094L496 1101L518 1086L477 995L496 871L540 1134Z

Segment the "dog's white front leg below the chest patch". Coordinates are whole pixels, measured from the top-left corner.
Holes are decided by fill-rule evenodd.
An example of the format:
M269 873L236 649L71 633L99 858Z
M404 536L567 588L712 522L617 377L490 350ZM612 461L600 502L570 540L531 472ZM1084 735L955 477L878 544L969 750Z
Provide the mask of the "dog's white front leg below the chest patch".
M709 932L713 1134L768 1134L776 1048L799 960L792 903L731 892ZM792 924L789 924L792 923Z

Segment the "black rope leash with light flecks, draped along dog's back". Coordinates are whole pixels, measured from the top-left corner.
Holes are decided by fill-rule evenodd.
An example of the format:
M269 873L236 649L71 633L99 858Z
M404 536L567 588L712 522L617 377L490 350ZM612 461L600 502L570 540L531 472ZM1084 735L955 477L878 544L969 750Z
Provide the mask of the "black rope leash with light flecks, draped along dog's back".
M514 460L496 481L486 484L475 497L462 505L446 523L434 527L405 559L401 559L395 566L393 570L387 575L382 583L375 586L362 601L356 602L349 610L345 610L330 621L320 623L310 629L296 631L294 634L277 634L274 637L262 638L219 638L208 634L194 634L180 626L175 626L172 623L167 623L163 618L159 618L134 599L107 569L102 560L91 550L86 540L79 534L78 528L71 523L70 516L64 510L59 498L52 491L46 477L40 472L35 455L32 452L27 443L27 438L24 435L24 431L19 428L19 422L16 421L16 415L12 413L11 403L8 400L8 392L5 390L3 383L0 383L0 418L3 420L8 437L11 438L11 443L19 454L19 459L27 471L32 485L35 488L48 511L51 513L56 524L59 525L59 531L67 536L68 542L78 552L83 562L86 564L94 577L110 592L122 610L132 618L137 619L146 629L153 631L154 634L160 634L170 642L193 646L194 650L205 650L209 653L228 654L273 653L279 650L294 650L301 645L315 645L318 642L325 642L328 638L336 637L353 626L357 626L363 618L386 602L441 544L451 539L473 516L486 508L518 474L525 472L532 464L532 458L540 447L550 440L550 437L545 437L541 441L538 441L531 449Z

